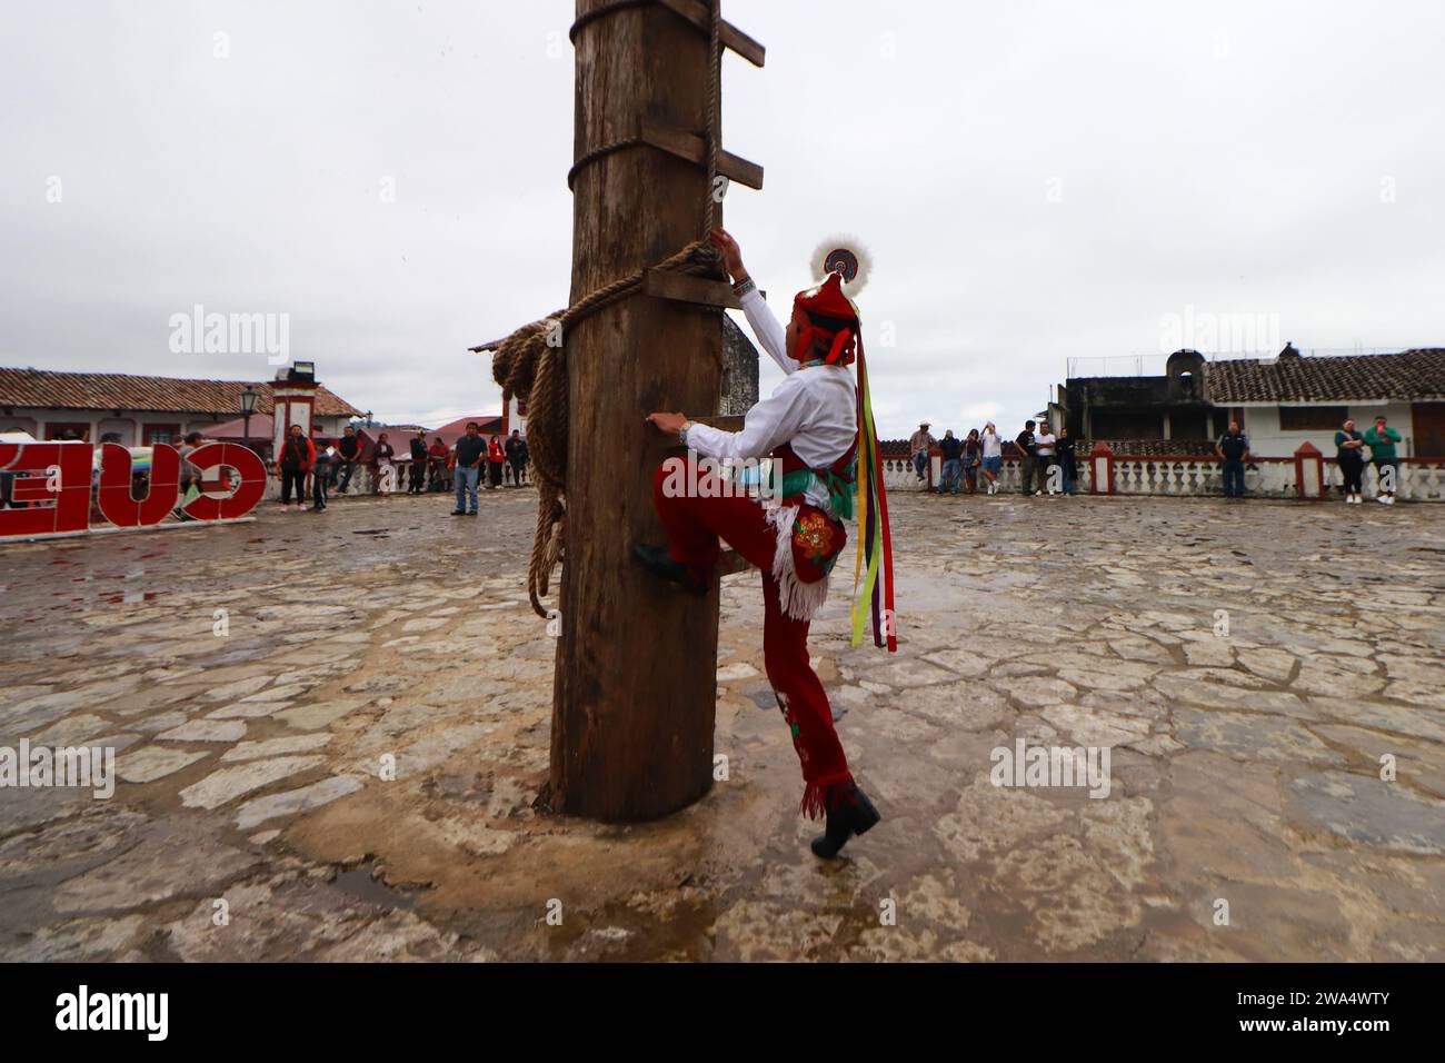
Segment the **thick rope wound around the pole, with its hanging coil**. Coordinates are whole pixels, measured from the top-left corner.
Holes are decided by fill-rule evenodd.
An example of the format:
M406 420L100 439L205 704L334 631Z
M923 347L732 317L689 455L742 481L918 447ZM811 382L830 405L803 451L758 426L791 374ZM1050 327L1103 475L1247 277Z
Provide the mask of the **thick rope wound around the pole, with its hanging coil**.
M572 39L577 30L603 14L627 7L639 7L650 0L614 0L614 3L581 16L572 25ZM702 208L702 239L694 240L676 255L659 262L655 269L681 273L718 276L718 253L707 242L717 220L717 168L718 168L718 119L721 97L721 23L722 0L708 0L708 114L707 114L707 194ZM568 172L571 187L577 172L588 162L610 155L621 148L633 146L631 140L620 140L585 152ZM546 618L542 605L552 580L552 568L562 558L564 525L566 506L566 447L568 447L568 388L566 354L562 337L568 330L592 314L631 298L643 286L647 269L639 269L618 278L559 309L551 317L517 328L494 349L491 376L501 386L503 402L514 396L527 401L527 450L532 457L538 483L538 521L532 539L532 558L527 565L527 597L538 616Z

